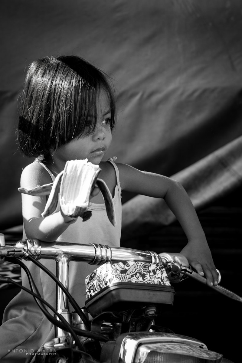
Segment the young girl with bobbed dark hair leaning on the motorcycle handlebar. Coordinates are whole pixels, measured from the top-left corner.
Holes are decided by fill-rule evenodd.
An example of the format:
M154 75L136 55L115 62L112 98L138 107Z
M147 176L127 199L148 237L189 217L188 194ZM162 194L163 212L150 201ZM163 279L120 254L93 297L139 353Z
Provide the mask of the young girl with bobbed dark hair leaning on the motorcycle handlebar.
M175 180L137 170L126 164L103 162L112 140L116 119L115 99L107 76L75 56L46 57L28 69L21 98L18 142L27 156L37 157L21 175L21 187L32 189L48 184L64 169L67 160L88 159L99 164L103 179L113 196L114 227L107 218L99 189L91 197L93 215L85 222L63 215L59 209L43 218L46 196L22 194L23 238L45 242L103 243L119 246L121 233L121 189L164 198L188 238L182 249L190 265L217 285L218 275L193 205ZM55 261L42 260L55 272ZM26 262L41 295L54 307L55 284L31 262ZM85 303L85 277L95 267L70 263L70 293L81 307ZM29 288L26 274L22 284ZM9 303L0 328L0 358L3 362L29 362L23 351L37 351L54 337L53 325L44 317L32 296L23 290Z

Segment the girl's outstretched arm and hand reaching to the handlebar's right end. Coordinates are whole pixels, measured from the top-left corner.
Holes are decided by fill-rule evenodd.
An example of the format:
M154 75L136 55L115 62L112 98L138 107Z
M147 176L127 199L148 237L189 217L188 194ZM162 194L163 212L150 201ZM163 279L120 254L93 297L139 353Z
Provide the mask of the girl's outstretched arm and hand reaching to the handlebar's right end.
M182 185L166 176L140 171L126 164L117 163L117 166L123 190L165 200L188 238L181 254L200 275L205 275L208 285L217 285L218 273L205 233Z

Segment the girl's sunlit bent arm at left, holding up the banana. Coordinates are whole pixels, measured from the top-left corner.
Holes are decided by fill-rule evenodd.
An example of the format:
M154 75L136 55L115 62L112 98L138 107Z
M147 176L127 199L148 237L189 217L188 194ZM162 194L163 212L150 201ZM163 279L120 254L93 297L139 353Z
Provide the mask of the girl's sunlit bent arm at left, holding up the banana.
M32 189L51 181L48 172L39 163L32 163L22 171L20 186ZM61 211L43 218L41 213L44 212L46 201L46 196L22 194L24 229L28 238L53 242L76 221L76 218L67 217Z

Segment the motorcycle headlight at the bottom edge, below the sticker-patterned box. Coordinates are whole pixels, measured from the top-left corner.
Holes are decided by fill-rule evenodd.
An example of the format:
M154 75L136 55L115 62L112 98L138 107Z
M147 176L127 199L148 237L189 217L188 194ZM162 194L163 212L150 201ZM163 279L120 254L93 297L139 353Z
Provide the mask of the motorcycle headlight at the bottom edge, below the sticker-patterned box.
M105 343L101 354L103 363L220 363L222 358L200 340L150 332L122 334L115 342Z

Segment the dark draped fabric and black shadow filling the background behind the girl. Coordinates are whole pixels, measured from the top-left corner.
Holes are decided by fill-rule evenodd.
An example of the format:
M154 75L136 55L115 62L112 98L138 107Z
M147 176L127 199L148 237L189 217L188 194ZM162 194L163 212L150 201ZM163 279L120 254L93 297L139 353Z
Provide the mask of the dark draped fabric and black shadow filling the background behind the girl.
M200 210L241 187L241 0L1 0L0 26L0 229L19 231L22 224L17 188L31 160L17 150L17 99L26 67L44 56L82 56L114 79L118 123L107 157L173 176ZM123 192L122 201L124 245L162 225L152 249L159 252L169 240L167 248L179 250L184 236L175 227L166 240L175 218L162 200ZM241 234L235 232L241 214L232 212L217 225L213 213L205 214L203 223L224 271L222 285L240 294ZM201 335L209 348L233 357L240 337L231 322L240 310L205 287L198 294L186 281L176 287L175 312L167 315L175 331Z

